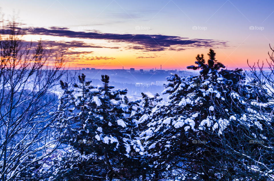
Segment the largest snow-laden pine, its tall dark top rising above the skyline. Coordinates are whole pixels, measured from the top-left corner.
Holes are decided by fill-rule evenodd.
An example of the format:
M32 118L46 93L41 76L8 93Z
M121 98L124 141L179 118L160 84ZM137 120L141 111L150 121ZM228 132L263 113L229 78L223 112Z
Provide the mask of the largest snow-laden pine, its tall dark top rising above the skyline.
M199 76L167 78L162 93L170 94L169 103L155 106L148 116L148 129L140 138L151 158L151 179L272 178L272 162L261 163L255 149L272 148L264 129L271 124L270 114L261 116L253 109L267 101L265 91L247 83L242 69L221 69L225 66L213 50L208 55L207 63L202 54L197 66L188 67L200 69Z

